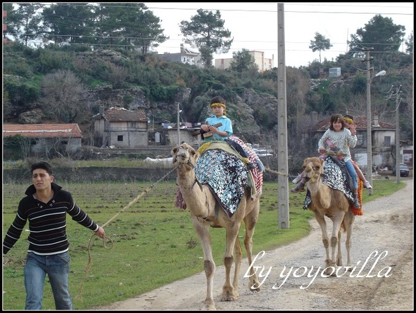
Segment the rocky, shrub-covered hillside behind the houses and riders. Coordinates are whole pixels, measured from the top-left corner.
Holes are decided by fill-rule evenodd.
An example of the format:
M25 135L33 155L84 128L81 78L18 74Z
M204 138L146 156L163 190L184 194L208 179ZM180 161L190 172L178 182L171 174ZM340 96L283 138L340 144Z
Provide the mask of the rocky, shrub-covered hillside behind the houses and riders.
M372 111L379 120L394 120L395 102L391 93L388 100L385 94L392 84L401 85L400 138L408 140L413 139L413 64L406 55L397 60L401 62L390 64L386 75L372 80ZM367 82L365 73L357 70L361 63L325 61L286 69L291 154L312 151L299 144L300 129L310 123L312 111L318 112L318 120L346 111L365 116ZM19 44L4 47L3 65L3 123L78 123L87 145L92 116L101 105L144 109L157 129L161 123L176 123L178 107L181 123L200 122L210 114L209 100L223 96L236 135L252 143L277 145L276 68L263 73L199 69L131 51L49 46L33 50ZM327 77L333 67L340 67L340 77Z

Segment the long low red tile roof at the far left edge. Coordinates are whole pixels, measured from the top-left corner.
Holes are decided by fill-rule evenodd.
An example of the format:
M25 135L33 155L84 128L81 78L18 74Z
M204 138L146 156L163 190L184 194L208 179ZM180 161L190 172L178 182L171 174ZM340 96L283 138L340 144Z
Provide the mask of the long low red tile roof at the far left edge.
M6 124L3 137L20 134L31 138L82 138L78 124Z

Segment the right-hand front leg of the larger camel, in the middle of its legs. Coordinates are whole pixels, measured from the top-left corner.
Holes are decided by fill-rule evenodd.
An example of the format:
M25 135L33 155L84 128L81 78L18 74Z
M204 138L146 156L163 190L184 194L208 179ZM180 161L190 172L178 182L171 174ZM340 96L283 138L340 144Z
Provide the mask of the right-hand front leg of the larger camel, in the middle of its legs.
M241 222L229 225L226 228L225 235L225 253L224 253L224 266L225 266L225 282L223 285L223 295L221 301L235 301L236 294L234 294L234 287L231 284L231 267L234 261L233 251L236 238L239 235Z

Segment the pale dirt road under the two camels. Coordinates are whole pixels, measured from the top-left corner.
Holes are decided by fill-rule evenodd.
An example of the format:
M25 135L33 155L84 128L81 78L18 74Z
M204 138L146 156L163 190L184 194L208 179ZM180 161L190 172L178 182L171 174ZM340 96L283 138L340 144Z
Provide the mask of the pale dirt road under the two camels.
M413 179L405 182L406 188L394 195L365 204L364 215L355 219L352 266L356 266L354 275L363 277L346 274L324 278L320 276L322 270L313 277L319 267L324 267L321 231L313 220L308 237L259 255L255 266L264 267L260 292L249 290L248 278L243 277L248 269L244 259L239 298L220 302L224 267L218 266L214 280L216 309L413 310ZM343 254L345 264L344 241ZM305 271L311 273L310 277ZM205 292L205 274L200 273L94 310L203 310Z

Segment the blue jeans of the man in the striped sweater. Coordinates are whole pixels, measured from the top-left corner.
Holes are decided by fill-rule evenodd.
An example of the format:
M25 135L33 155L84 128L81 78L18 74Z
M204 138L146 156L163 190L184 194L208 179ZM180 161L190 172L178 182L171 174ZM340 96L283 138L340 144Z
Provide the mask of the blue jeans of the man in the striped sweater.
M44 281L48 274L51 282L56 310L73 310L68 290L69 253L53 256L39 256L29 252L24 267L24 286L26 287L25 310L42 310Z

